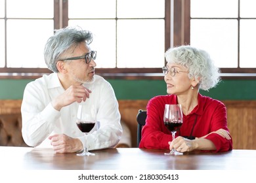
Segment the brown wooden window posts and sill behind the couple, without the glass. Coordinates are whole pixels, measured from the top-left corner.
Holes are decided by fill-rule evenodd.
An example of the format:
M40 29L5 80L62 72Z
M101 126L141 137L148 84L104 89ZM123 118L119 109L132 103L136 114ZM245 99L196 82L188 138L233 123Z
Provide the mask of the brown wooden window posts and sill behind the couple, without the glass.
M60 1L62 1L62 4L60 4ZM54 1L53 20L54 29L60 29L68 25L68 0ZM165 0L164 20L165 50L181 44L190 44L190 0ZM7 51L5 50L5 52ZM5 62L7 62L6 58ZM52 71L47 68L0 68L0 78L33 79L49 73L52 73ZM221 73L222 78L225 79L256 78L255 68L221 68ZM110 79L163 79L161 68L97 68L96 74Z

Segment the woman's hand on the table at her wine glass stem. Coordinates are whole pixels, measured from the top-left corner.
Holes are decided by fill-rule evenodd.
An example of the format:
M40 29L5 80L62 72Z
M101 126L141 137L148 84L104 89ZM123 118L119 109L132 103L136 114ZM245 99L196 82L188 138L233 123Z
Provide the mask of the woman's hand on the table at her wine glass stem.
M169 145L170 150L175 148L177 152L190 152L196 148L194 140L186 139L181 136L169 142Z

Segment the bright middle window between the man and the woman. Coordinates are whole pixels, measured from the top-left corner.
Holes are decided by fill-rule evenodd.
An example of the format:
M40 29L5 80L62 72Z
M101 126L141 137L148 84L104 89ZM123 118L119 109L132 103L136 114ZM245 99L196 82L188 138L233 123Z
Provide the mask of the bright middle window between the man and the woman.
M93 31L100 68L160 68L164 6L163 0L74 0L69 1L68 25Z

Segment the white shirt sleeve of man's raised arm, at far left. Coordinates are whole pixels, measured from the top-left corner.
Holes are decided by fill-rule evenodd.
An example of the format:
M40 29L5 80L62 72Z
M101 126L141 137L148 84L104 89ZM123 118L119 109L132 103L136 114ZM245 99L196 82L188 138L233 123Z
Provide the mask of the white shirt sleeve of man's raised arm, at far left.
M28 84L22 99L22 137L28 146L38 146L53 131L54 122L60 117L60 112L51 103L45 104L43 87ZM45 97L45 96L44 96Z

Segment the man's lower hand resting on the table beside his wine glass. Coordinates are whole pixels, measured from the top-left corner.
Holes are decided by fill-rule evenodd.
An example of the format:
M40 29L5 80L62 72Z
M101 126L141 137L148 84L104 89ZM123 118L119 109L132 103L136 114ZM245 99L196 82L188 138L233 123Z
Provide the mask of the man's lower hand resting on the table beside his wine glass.
M74 139L64 134L52 135L49 139L56 153L77 152L83 148L83 144L79 139Z

